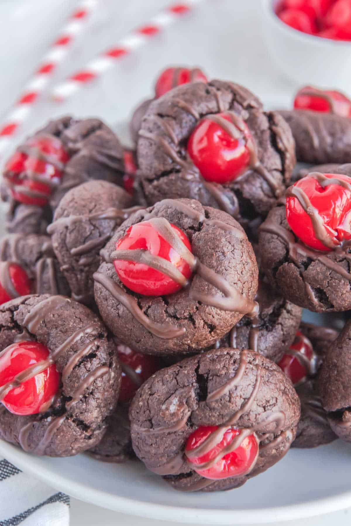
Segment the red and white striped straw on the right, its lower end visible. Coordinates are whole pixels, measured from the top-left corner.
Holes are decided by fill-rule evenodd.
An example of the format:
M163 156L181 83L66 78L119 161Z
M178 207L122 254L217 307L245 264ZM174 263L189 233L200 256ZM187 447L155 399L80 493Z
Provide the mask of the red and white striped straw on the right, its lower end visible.
M138 47L147 44L149 39L161 33L167 26L175 23L183 15L192 11L195 4L202 0L186 0L186 2L172 4L151 18L146 24L117 42L113 47L89 62L84 69L79 70L65 82L58 84L52 90L52 97L57 102L63 102L92 80L98 78L108 69L116 65L118 60L131 54Z

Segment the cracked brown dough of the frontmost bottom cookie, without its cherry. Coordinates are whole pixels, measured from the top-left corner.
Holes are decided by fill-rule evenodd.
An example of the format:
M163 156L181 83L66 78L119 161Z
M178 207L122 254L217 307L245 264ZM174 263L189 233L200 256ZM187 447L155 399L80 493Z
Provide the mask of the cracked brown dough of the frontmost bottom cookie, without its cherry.
M243 364L243 375L235 383ZM247 410L239 415L244 403ZM198 427L220 426L235 414L234 427L255 428L257 462L245 476L204 479L186 462L186 440ZM139 459L185 491L236 488L273 466L294 439L299 415L296 391L282 370L254 351L237 349L211 350L156 372L137 391L129 410Z

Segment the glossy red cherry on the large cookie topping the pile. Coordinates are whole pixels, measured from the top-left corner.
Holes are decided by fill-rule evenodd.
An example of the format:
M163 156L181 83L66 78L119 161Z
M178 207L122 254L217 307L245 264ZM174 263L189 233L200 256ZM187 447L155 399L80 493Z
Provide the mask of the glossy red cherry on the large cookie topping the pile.
M227 113L218 116L231 122ZM212 120L206 117L200 120L188 139L187 150L206 181L229 183L248 168L250 152L247 142L252 137L244 122L241 135L242 138L237 139Z

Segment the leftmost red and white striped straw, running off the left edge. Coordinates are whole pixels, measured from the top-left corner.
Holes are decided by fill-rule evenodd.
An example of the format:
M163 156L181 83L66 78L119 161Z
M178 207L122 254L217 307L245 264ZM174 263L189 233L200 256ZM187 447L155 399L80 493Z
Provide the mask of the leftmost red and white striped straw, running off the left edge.
M56 41L44 55L41 65L25 86L22 96L0 125L0 156L11 145L19 127L28 118L39 95L51 80L56 67L63 61L69 47L85 26L86 20L97 6L97 0L83 0L69 16Z

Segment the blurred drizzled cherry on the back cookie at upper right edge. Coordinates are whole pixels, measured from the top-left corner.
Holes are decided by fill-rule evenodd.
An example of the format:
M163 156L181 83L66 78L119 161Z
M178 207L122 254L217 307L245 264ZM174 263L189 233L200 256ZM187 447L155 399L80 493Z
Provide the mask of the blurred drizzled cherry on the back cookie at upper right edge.
M314 112L330 113L332 107L323 95L327 95L333 100L333 109L335 113L342 117L351 117L351 100L343 93L329 89L322 90L312 86L306 86L297 92L294 100L294 108L311 109Z

